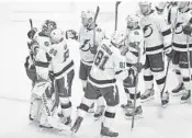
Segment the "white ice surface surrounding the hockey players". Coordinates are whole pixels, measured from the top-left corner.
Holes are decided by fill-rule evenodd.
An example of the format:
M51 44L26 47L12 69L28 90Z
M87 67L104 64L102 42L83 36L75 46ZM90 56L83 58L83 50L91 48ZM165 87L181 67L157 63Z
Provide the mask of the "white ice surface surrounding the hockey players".
M44 19L50 16L58 20L58 24L63 28L71 27L78 30L80 19L77 9L83 9L82 5L84 3L79 4L63 7L63 4L34 3L30 7L30 3L0 3L0 138L70 138L69 133L41 131L38 128L30 125L29 101L31 82L25 74L23 64L27 56L26 32L30 30L27 19L32 18L35 26L39 25ZM110 32L114 28L114 7L112 7L114 4L106 4L112 10L108 11L105 9L106 12L102 12L104 8L101 7L99 20L103 23L105 30ZM95 9L95 3L90 5ZM127 8L132 11L133 8L131 5ZM57 9L53 10L50 7L56 7ZM72 15L70 8L75 10ZM37 10L39 13L22 12L22 10ZM47 10L49 13L41 12ZM54 11L58 13L56 14ZM65 11L65 13L59 11ZM126 14L127 11L124 13ZM81 82L78 79L78 44L75 42L70 42L70 44L71 56L76 64L76 77L71 97L74 104L72 118L75 119L76 106L80 103L83 92ZM169 90L176 87L177 83L176 76L170 70L168 77ZM118 85L122 104L125 102L126 96L121 83ZM143 81L139 83L139 89L144 92ZM131 131L132 122L124 118L124 113L118 105L113 129L120 133L120 138L192 138L192 105L180 104L180 96L170 96L170 105L162 110L159 107L160 100L158 92L156 92L156 96L155 101L143 104L144 118L135 120L133 131ZM99 138L100 123L101 120L94 122L92 114L88 114L75 138Z

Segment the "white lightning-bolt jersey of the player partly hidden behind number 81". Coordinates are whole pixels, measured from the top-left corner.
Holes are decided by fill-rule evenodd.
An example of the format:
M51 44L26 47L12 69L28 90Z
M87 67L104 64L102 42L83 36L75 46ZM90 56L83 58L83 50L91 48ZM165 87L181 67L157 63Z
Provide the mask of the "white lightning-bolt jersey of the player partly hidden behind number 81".
M95 45L98 46L103 39L103 31L100 27L95 27ZM93 30L80 27L79 31L79 43L80 43L80 57L84 65L92 66L95 54L91 53L93 47ZM94 47L97 48L97 47Z

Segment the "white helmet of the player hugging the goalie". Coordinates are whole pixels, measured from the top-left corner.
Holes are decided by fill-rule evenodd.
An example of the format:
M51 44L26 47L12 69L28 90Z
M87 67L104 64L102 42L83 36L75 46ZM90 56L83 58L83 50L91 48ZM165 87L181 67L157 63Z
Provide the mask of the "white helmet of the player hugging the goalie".
M50 42L54 44L60 43L65 38L65 33L60 28L53 30L50 33Z

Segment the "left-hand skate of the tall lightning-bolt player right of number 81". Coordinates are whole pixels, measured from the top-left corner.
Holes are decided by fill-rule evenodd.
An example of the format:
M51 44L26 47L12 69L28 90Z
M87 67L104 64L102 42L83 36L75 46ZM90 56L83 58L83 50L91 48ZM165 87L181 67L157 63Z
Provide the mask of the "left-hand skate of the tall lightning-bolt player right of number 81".
M155 95L155 90L153 89L147 89L142 95L140 95L140 102L147 102L150 100L154 100L154 95Z

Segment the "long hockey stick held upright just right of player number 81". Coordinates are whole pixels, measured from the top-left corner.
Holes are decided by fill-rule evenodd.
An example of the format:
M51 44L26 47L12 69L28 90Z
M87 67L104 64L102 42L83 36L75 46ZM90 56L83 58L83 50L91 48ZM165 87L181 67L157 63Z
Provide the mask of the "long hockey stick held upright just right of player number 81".
M140 48L138 48L138 58L137 58L137 64L140 61ZM133 106L133 116L132 116L132 127L131 131L134 129L134 124L135 124L135 107L136 107L136 95L138 91L138 74L139 72L136 72L136 80L135 80L135 93L134 93L134 106Z

